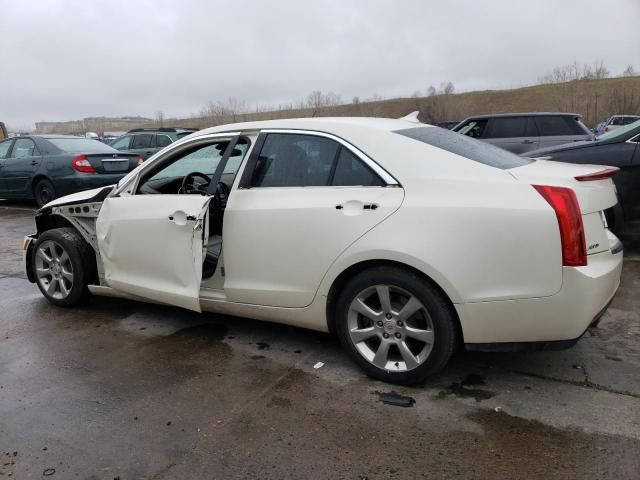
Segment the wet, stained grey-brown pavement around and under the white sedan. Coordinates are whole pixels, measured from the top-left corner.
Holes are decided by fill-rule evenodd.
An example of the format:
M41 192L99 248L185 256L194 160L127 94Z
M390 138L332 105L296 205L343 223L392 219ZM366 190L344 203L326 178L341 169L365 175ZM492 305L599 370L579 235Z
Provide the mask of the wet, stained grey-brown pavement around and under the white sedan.
M574 348L459 353L405 388L316 332L109 298L53 307L22 273L33 212L5 205L0 478L640 477L637 238Z

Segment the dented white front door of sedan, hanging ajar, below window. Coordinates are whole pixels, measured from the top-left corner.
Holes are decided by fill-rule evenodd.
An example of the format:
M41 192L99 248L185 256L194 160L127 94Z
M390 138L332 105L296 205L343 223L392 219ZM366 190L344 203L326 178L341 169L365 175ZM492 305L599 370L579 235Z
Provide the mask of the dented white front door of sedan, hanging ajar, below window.
M96 222L107 285L199 312L203 227L210 199L201 195L107 198Z

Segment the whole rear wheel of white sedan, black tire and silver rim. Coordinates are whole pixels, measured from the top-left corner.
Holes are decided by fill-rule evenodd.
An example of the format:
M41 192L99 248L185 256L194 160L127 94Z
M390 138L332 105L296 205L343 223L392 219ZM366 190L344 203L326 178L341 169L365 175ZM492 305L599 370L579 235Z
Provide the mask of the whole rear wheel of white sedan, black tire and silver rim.
M424 382L444 368L455 349L449 301L427 280L400 268L356 275L339 295L336 314L342 345L378 380Z

